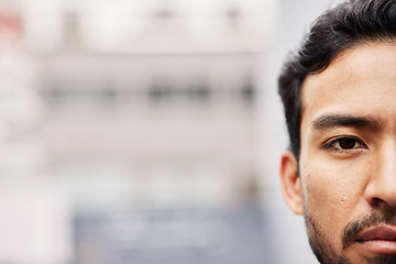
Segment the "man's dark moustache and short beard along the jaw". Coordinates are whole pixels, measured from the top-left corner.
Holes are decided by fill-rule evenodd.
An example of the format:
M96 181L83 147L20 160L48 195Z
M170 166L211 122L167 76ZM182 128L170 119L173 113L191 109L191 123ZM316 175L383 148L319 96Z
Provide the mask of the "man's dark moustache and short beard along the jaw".
M396 210L389 207L373 209L369 213L360 216L349 222L340 235L340 241L342 243L341 252L337 252L337 250L331 245L329 238L326 235L326 232L323 232L323 228L316 222L307 208L305 208L305 221L309 244L319 263L352 264L352 261L344 255L344 252L353 244L356 235L370 227L384 223L396 226ZM396 255L383 254L370 257L362 256L362 261L363 260L369 264L394 264L396 263Z

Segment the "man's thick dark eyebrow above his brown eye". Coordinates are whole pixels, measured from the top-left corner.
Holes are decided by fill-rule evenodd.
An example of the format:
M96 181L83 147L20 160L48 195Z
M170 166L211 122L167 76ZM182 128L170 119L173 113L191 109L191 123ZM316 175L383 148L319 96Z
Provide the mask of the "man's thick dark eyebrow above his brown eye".
M315 119L311 127L316 130L327 130L334 127L355 127L378 130L381 123L367 117L353 117L342 114L324 114Z

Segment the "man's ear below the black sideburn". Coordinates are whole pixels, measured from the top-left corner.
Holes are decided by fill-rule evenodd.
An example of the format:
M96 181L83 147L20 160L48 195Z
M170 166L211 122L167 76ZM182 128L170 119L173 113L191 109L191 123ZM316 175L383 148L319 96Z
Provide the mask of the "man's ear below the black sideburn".
M300 177L298 176L298 164L295 155L286 151L280 157L280 183L282 193L286 204L294 213L304 213L302 191Z

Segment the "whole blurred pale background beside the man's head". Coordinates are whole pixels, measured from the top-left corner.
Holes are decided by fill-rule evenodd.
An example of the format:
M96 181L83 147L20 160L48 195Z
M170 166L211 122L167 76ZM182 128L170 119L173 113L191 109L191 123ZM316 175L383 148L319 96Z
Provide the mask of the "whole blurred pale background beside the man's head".
M0 0L0 263L315 263L276 78L333 2Z

